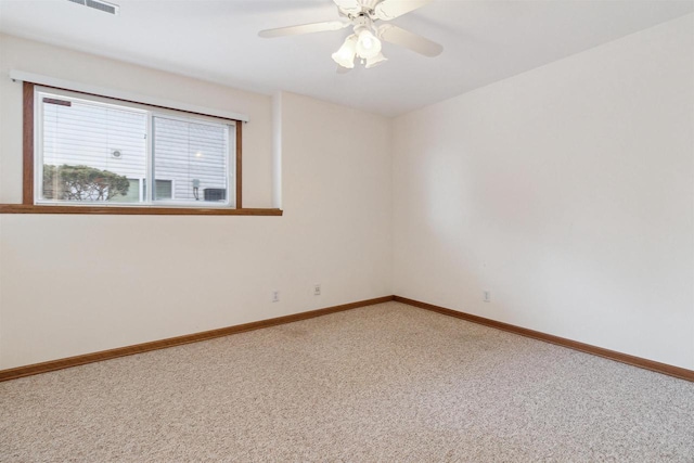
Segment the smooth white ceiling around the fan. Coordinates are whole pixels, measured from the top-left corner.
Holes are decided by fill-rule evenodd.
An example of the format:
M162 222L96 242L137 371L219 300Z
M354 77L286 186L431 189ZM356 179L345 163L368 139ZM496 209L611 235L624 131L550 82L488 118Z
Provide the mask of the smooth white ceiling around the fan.
M407 1L407 0L403 0ZM272 94L291 91L395 116L694 11L694 0L435 0L391 23L444 46L337 74L351 31L264 39L260 29L337 18L332 0L0 0L0 31ZM694 33L694 31L693 31Z

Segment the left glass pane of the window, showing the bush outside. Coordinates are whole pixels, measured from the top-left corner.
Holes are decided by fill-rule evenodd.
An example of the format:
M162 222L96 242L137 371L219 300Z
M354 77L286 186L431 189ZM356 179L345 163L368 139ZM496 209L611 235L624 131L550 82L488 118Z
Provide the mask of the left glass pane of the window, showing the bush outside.
M41 198L132 203L146 176L146 114L39 93Z

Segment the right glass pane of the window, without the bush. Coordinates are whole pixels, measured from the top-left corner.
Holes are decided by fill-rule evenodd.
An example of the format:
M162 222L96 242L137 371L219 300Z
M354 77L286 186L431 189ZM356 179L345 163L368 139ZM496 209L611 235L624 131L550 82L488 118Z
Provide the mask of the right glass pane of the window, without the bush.
M156 178L171 179L168 197L177 202L226 201L229 126L163 116L155 116L153 125L154 172ZM156 200L167 198L158 189L157 180ZM210 198L205 194L208 189L218 194Z

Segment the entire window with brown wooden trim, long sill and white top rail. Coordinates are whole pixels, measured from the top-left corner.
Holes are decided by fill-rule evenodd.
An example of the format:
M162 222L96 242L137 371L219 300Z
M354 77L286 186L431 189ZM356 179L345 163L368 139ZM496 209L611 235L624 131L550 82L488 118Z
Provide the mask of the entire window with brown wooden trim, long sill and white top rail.
M98 95L82 83L18 70L10 76L23 87L22 203L0 204L0 214L283 215L242 206L245 116L174 110L168 105L178 103L141 103L115 90Z

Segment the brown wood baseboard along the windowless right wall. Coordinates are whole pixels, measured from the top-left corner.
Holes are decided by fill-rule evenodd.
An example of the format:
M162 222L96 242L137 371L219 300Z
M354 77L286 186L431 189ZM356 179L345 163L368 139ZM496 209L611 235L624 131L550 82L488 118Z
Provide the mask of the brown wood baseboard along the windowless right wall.
M435 306L433 304L422 303L414 299L408 299L407 297L394 296L394 300L409 306L419 307L421 309L430 310L434 312L442 313L445 316L454 317L457 319L465 320L468 322L483 324L497 330L503 330L511 333L519 334L522 336L531 337L534 339L543 340L545 343L556 344L558 346L568 347L569 349L580 350L581 352L592 353L593 356L604 357L606 359L615 360L621 363L627 363L633 366L639 366L645 370L651 370L657 373L667 374L669 376L679 377L680 380L686 380L694 382L694 371L683 369L680 366L669 365L667 363L660 363L653 360L642 359L641 357L634 357L627 353L617 352L615 350L603 349L602 347L591 346L590 344L579 343L577 340L567 339L565 337L553 336L539 331L528 330L525 327L512 325L509 323L498 322L496 320L486 319L484 317L472 316L465 312L459 312L458 310L447 309L445 307Z

